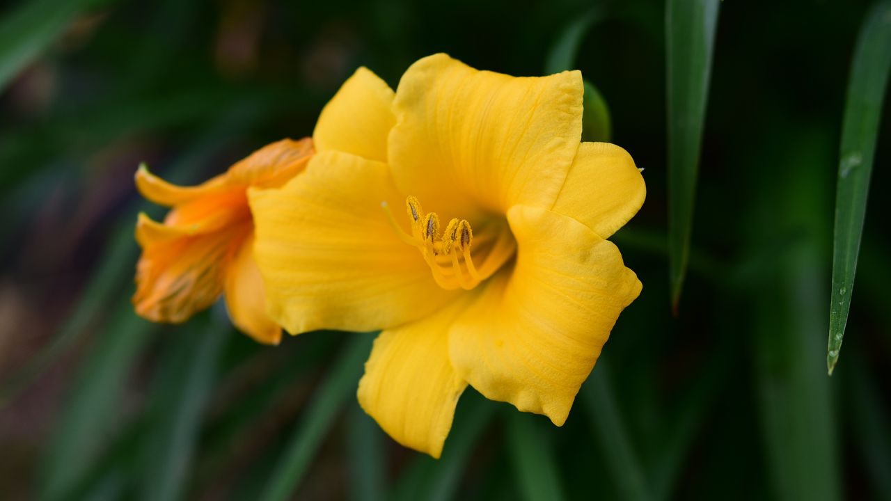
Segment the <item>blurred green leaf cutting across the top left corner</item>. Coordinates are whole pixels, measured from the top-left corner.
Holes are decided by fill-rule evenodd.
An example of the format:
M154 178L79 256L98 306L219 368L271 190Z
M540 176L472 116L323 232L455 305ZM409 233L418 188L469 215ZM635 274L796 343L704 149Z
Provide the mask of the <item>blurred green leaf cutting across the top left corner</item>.
M20 2L0 23L0 92L12 78L60 37L78 12L109 0L37 0Z

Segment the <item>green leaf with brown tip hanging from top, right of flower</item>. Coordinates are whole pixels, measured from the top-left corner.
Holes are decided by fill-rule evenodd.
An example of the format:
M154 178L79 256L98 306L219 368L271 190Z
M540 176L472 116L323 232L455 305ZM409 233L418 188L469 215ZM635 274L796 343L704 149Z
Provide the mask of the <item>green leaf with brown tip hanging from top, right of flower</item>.
M666 4L668 273L675 312L690 258L718 4L718 0L668 0Z

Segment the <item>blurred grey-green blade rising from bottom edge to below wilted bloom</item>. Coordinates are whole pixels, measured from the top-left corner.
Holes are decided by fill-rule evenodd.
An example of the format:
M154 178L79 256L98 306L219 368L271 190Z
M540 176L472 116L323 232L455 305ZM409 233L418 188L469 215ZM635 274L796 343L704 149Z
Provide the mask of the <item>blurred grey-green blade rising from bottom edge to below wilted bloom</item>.
M143 435L146 456L140 490L144 499L184 497L201 417L213 388L220 352L232 331L216 316L203 316L204 322L193 320L191 328L184 329L192 332L177 333L168 358L161 364L151 403L155 422Z

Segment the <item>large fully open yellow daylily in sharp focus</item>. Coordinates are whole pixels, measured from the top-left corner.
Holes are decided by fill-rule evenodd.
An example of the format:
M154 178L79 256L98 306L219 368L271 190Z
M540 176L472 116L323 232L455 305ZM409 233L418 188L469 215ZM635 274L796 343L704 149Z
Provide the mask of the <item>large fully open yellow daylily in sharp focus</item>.
M306 172L249 190L270 316L381 329L358 398L407 447L440 455L468 384L562 425L641 292L606 238L643 179L625 150L580 142L582 94L578 71L514 78L446 54L395 94L361 68Z

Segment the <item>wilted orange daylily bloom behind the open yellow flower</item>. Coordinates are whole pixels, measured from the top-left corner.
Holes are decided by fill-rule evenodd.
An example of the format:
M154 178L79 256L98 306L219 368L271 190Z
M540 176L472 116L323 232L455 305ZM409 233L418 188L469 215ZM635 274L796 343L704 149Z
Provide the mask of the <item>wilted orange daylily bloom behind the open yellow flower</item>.
M266 315L247 191L283 185L303 171L312 154L311 139L283 139L198 186L170 185L140 167L139 192L173 209L163 224L143 213L136 221L136 242L143 248L136 265L136 313L154 322L184 322L225 293L236 327L259 342L278 344L282 328Z

